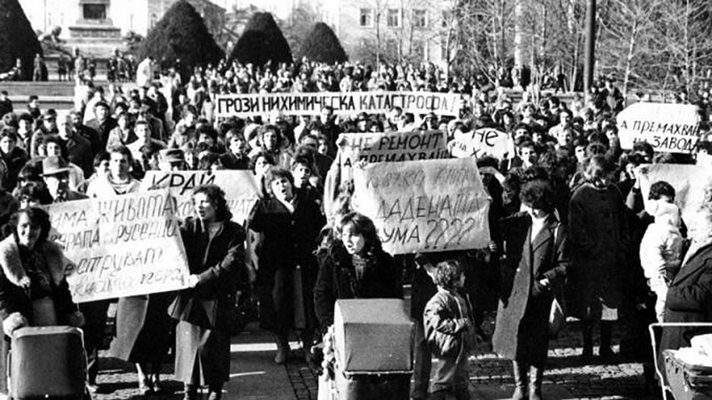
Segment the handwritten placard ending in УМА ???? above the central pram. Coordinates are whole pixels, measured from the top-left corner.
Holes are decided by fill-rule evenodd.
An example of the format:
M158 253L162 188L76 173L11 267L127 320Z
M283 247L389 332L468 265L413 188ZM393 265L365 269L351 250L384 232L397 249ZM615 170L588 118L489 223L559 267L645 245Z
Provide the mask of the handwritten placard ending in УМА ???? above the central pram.
M473 158L376 163L354 169L356 210L391 254L487 247L490 197Z

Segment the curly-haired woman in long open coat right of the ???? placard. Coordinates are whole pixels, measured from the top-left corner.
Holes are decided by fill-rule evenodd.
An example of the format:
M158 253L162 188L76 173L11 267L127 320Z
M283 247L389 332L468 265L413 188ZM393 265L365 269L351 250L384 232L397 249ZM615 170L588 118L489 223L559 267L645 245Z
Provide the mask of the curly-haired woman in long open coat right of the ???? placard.
M554 215L549 182L525 184L520 197L526 213L502 221L506 258L492 343L496 353L513 360L512 399L535 400L541 399L551 303L564 286L568 268L567 238Z

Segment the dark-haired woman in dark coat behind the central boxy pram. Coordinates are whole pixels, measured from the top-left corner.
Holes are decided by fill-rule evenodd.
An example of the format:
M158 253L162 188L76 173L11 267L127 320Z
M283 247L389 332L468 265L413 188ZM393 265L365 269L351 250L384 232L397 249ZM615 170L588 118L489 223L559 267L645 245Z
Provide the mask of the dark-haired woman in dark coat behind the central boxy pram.
M401 268L383 251L368 217L351 212L337 225L338 238L319 261L314 287L316 316L325 331L338 299L402 298Z

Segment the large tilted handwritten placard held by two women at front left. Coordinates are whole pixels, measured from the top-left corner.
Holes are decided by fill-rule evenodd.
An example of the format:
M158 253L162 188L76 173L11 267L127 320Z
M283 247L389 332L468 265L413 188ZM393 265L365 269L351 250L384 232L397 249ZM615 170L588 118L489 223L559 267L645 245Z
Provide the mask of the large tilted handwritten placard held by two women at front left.
M190 275L167 190L45 206L77 303L185 289Z

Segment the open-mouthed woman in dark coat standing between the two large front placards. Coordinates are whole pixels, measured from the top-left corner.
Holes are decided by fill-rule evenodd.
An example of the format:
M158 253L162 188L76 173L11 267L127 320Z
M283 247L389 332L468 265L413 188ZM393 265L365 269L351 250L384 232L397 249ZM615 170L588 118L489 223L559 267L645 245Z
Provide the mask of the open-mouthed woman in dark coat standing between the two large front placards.
M263 183L268 196L257 204L249 224L250 229L262 235L256 246L259 267L255 289L260 301L260 325L274 334L274 361L282 364L289 354L290 329L303 329L305 350L314 339L316 317L311 293L318 266L313 253L326 219L315 201L303 198L295 190L289 171L271 167ZM300 285L301 294L297 293ZM299 318L302 315L303 321Z

